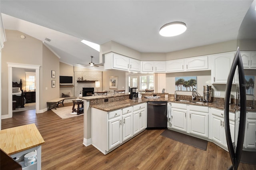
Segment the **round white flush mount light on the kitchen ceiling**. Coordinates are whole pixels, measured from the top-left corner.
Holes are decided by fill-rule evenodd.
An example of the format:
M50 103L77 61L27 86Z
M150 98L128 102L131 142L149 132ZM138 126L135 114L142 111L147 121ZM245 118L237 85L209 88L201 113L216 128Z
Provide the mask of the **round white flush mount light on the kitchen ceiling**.
M170 22L164 24L159 31L159 34L164 37L178 36L187 30L187 25L184 22Z

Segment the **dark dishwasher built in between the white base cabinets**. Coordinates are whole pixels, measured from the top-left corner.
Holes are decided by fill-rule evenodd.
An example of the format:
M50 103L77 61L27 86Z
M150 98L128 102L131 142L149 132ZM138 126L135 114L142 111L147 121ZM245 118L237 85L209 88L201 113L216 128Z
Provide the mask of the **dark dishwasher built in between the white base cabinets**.
M167 128L167 102L150 101L148 102L148 129Z

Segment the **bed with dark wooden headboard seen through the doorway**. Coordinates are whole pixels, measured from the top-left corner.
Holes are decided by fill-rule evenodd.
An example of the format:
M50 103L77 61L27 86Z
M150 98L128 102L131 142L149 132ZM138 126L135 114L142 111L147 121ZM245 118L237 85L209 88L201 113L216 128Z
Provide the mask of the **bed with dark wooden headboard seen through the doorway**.
M24 104L26 103L21 79L20 83L12 82L12 100L16 101L16 107L24 107Z

